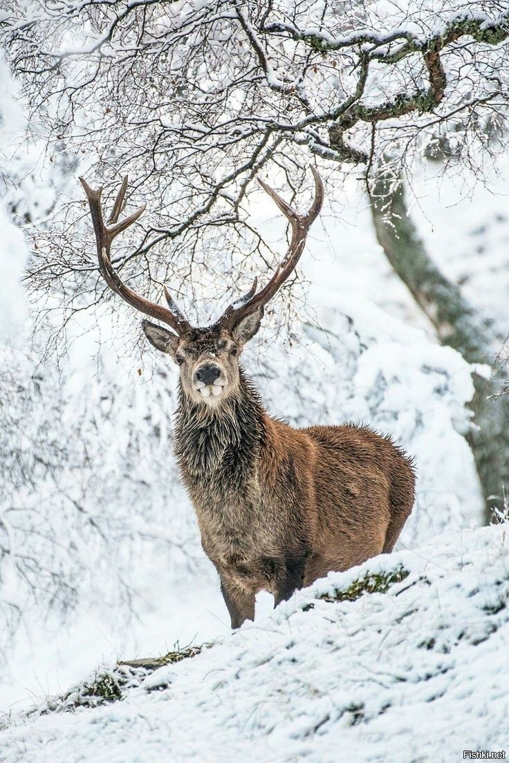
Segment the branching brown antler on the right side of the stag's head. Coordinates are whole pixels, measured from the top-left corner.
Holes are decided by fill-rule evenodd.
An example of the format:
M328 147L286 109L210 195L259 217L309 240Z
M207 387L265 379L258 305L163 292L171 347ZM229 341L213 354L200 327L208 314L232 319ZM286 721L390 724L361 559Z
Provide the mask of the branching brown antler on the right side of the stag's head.
M292 240L290 241L290 246L288 247L288 252L286 253L285 258L277 267L269 283L257 292L256 287L258 285L258 278L255 278L250 291L233 304L230 304L230 307L227 307L220 319L221 324L224 324L224 326L234 326L234 324L237 324L244 315L252 312L256 305L267 304L267 302L275 295L276 291L281 288L282 284L288 278L288 275L295 269L295 266L304 251L304 244L306 243L308 230L316 220L321 210L321 206L324 203L324 183L314 167L311 167L311 172L314 177L314 201L307 214L298 214L298 212L296 212L295 209L292 209L292 207L290 207L281 196L270 188L269 185L266 185L263 180L259 180L259 184L262 186L263 190L275 201L279 209L285 217L288 218L288 221L292 225Z

